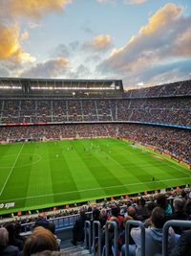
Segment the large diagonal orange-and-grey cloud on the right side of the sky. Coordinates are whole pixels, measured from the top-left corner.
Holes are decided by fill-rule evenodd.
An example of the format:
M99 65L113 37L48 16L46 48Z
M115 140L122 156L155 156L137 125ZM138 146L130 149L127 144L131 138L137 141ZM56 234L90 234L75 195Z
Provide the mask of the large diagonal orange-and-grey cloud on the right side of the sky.
M117 69L130 70L143 68L151 62L156 63L161 56L169 56L169 45L174 45L177 35L185 30L185 26L182 27L181 13L181 7L166 4L149 19L146 26L139 29L138 35L132 36L123 47L114 49L104 63ZM163 54L164 51L168 51L166 55Z

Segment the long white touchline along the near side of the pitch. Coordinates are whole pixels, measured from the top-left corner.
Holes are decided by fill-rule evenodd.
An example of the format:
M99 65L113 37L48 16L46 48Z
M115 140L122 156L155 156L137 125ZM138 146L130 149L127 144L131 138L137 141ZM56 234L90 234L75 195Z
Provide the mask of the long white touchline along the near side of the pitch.
M191 178L191 176L190 176ZM28 198L12 198L8 199L6 201L15 201L15 200L22 200L22 199L32 199L32 198L44 198L44 197L53 197L53 196L59 196L59 195L66 195L66 194L73 194L76 192L89 192L89 191L96 191L96 190L103 190L103 189L112 189L112 188L120 188L120 187L125 187L125 186L136 186L136 185L143 185L143 184L151 184L151 183L159 183L159 182L166 182L166 181L171 181L171 180L180 180L180 179L187 179L187 177L178 177L178 178L170 178L170 179L162 179L162 180L156 180L156 181L147 181L147 182L139 182L139 183L130 183L130 184L123 184L123 185L115 185L115 186L108 186L108 187L98 187L98 188L92 188L92 189L84 189L84 190L74 190L74 191L69 191L69 192L61 192L61 193L55 193L55 194L47 194L47 195L40 195L40 196L35 196L35 197L28 197ZM3 201L0 201L3 202Z

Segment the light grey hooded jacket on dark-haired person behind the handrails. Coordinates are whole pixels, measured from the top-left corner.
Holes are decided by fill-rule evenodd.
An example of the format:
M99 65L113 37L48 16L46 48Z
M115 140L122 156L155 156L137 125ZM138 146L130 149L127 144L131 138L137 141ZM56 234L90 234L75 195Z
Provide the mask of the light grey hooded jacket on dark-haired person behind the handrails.
M141 231L140 228L132 228L131 236L135 241L136 256L141 255ZM168 249L171 251L175 246L175 233L172 228L169 228ZM145 228L145 255L146 256L161 256L162 255L162 228L150 226Z

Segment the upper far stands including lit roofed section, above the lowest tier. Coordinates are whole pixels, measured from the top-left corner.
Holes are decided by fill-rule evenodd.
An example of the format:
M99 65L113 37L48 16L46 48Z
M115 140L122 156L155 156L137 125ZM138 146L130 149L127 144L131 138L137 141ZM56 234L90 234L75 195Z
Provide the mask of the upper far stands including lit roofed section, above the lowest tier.
M191 127L190 116L191 81L125 92L122 81L0 79L0 125L119 121Z

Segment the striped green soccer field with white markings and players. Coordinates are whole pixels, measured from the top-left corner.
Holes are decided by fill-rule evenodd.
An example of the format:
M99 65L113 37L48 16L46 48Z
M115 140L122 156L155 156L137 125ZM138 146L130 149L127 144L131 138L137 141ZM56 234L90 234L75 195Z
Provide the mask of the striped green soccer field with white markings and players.
M117 139L0 145L0 214L188 183L190 170Z

